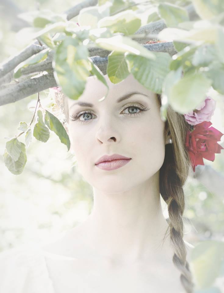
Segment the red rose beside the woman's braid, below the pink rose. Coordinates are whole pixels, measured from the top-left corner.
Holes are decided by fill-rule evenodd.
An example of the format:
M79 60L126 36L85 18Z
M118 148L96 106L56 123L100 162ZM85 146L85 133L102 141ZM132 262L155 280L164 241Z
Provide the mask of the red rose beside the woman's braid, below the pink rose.
M186 146L190 155L193 170L195 166L204 165L203 158L214 161L215 153L220 154L222 146L217 141L221 140L223 133L217 130L211 121L203 121L194 126L193 131L188 131L186 135Z

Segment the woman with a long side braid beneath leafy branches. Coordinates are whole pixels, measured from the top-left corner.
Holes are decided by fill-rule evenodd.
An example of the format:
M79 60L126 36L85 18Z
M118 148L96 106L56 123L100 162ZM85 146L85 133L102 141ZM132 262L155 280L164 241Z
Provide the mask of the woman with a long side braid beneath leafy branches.
M101 101L107 88L95 76L78 100L56 96L79 172L93 186L92 212L55 242L3 253L0 275L11 265L18 282L4 292L193 292L182 221L190 125L171 107L162 121L160 96L132 74L118 84L105 78ZM98 164L113 154L125 159Z

